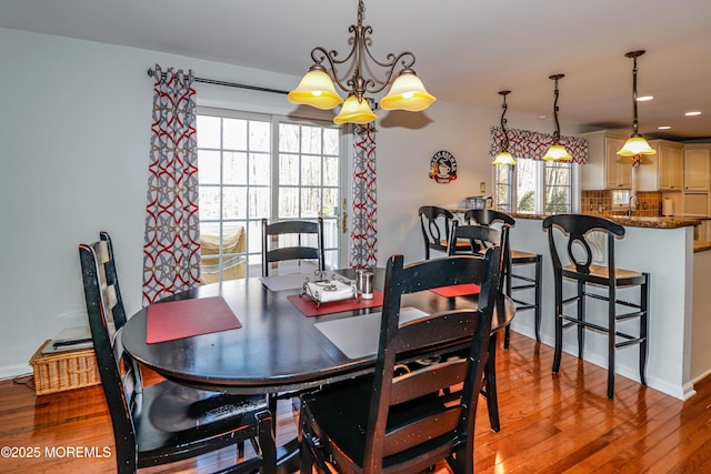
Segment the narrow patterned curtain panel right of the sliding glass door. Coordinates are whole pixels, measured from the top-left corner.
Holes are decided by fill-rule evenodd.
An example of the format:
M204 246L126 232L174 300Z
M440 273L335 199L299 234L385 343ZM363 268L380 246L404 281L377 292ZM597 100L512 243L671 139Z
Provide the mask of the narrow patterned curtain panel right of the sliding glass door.
M353 215L349 265L363 269L378 263L375 130L371 125L354 125L353 139Z

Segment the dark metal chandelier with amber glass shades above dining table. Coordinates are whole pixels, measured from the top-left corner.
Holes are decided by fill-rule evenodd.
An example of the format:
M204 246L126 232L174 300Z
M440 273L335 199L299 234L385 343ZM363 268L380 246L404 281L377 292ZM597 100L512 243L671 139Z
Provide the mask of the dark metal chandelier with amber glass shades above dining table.
M349 28L349 31L353 33L349 39L349 44L352 47L344 59L337 59L337 51L328 51L322 47L316 47L311 50L313 65L301 79L297 89L289 92L290 102L318 109L333 109L343 103L343 99L336 90L336 85L338 85L348 94L348 98L333 122L338 124L347 122L370 123L378 118L372 111L378 104L372 97L365 95L377 94L385 89L395 78L394 72L398 65L402 69L392 81L389 93L382 98L380 102L382 109L419 112L437 100L424 89L424 84L412 70L414 54L410 51L401 52L398 56L389 53L384 62L373 58L369 48L372 42L370 39L372 28L363 27L364 12L363 0L359 0L358 24L351 24ZM374 64L365 63L369 58ZM346 74L339 77L337 68L351 60L352 63L344 67ZM374 69L373 65L385 69L383 80L363 77L365 70Z

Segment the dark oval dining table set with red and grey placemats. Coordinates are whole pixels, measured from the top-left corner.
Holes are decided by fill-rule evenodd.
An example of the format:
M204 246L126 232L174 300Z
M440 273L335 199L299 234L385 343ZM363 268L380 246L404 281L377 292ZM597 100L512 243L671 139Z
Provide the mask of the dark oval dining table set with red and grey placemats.
M216 392L273 395L358 377L372 373L378 350L384 269L372 272L371 300L321 304L303 294L304 282L348 283L356 279L356 270L248 278L193 288L139 310L126 323L122 343L140 364L163 377ZM460 286L444 293L403 295L401 322L475 306L477 293ZM223 325L216 323L218 313L227 313ZM495 334L514 314L513 302L501 295L492 320L489 371L495 366ZM455 353L470 342L463 335L455 345L409 355L422 361ZM296 456L296 440L279 447L280 466L292 468Z

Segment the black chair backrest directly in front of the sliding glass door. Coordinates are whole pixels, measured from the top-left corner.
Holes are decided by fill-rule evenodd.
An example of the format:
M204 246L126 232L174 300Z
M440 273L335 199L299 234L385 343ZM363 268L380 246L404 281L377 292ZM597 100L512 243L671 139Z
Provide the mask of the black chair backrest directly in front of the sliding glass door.
M286 245L270 245L270 241L283 239ZM311 239L316 245L306 245ZM262 276L269 276L269 266L287 260L316 260L318 270L326 269L323 251L323 219L316 221L280 221L268 223L262 219Z

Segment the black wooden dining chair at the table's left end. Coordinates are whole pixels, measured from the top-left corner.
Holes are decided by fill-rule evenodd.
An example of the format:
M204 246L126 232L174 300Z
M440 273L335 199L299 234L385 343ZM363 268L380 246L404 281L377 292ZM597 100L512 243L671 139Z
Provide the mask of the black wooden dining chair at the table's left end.
M234 445L233 472L274 473L272 415L263 396L204 392L169 381L143 386L139 364L123 351L123 313L111 240L79 244L89 326L109 406L119 473L191 458ZM113 323L111 323L111 317ZM237 446L250 441L256 455Z

